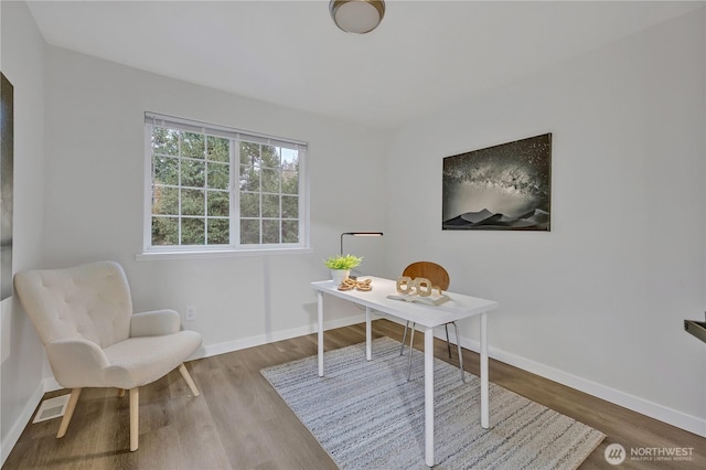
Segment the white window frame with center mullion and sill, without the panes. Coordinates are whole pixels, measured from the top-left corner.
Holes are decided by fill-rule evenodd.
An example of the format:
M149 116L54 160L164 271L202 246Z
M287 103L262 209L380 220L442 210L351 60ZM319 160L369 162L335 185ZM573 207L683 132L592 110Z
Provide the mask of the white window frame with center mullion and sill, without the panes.
M152 128L167 127L189 132L227 138L229 146L229 194L231 194L231 239L227 245L152 245ZM308 145L303 141L278 138L224 126L211 125L156 113L145 113L145 206L143 206L143 247L138 260L159 258L240 256L261 254L312 253L309 217L309 172L307 164ZM299 180L299 242L279 244L240 244L240 189L239 189L239 143L242 141L281 147L298 151ZM280 193L281 194L281 193ZM260 214L260 220L266 217ZM280 218L281 221L281 218Z

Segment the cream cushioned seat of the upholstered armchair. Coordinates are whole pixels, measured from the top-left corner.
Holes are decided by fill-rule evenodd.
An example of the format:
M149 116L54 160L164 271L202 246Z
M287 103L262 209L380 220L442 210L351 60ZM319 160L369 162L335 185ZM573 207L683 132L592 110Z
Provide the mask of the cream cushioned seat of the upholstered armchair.
M130 389L152 383L176 368L200 345L201 334L195 331L120 341L104 350L110 364L104 386Z

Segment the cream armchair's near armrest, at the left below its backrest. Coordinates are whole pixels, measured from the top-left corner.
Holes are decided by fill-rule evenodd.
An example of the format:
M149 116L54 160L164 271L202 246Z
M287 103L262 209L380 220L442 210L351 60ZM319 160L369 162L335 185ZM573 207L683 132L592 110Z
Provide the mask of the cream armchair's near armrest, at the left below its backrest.
M60 340L46 345L54 377L67 388L99 386L108 359L98 344L87 340Z

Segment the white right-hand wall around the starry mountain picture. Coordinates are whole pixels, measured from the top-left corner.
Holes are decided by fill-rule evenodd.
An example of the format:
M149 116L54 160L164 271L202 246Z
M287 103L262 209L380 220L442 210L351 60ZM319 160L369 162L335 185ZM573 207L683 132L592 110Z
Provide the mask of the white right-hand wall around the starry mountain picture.
M702 8L399 130L386 265L436 260L451 290L499 300L496 357L706 436L705 345L683 331L706 303L704 23ZM544 132L552 232L441 231L443 157Z

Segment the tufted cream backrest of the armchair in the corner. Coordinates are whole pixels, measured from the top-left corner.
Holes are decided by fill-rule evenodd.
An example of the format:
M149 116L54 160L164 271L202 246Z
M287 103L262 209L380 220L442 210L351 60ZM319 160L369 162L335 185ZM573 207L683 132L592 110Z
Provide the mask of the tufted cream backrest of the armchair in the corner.
M18 273L14 286L44 345L85 339L107 348L130 335L132 300L117 263Z

